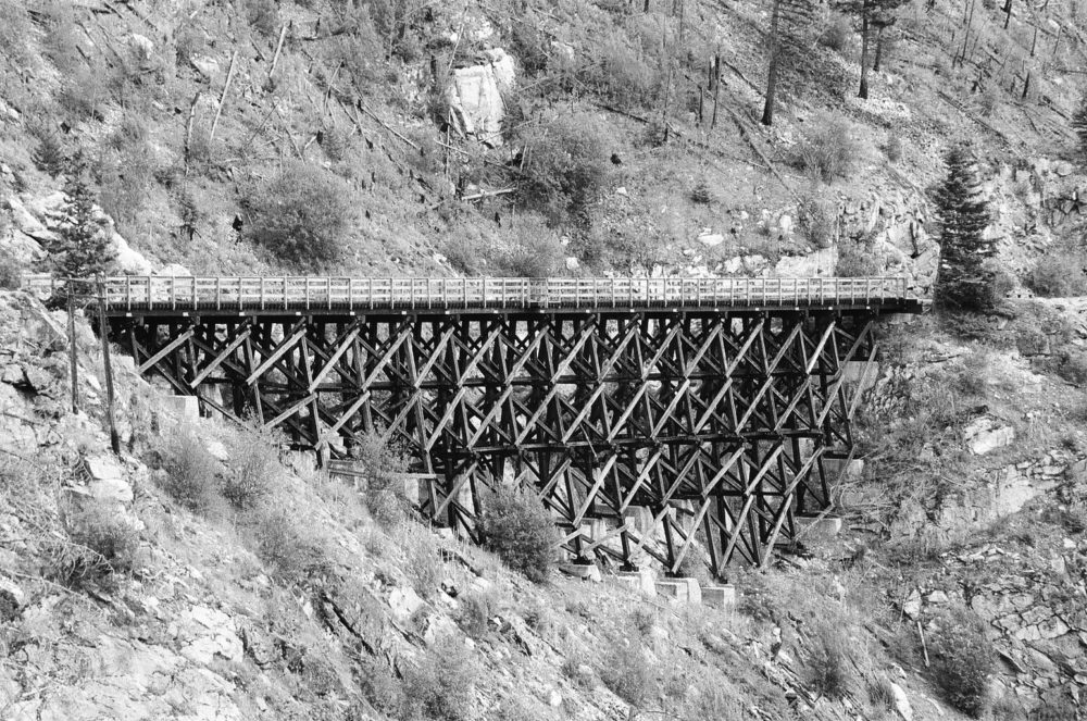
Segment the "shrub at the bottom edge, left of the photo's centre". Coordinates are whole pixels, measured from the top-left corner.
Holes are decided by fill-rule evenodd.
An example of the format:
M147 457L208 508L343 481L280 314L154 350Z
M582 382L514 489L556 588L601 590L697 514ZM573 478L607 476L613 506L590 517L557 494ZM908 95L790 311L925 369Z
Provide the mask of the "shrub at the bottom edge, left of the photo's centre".
M400 718L466 721L472 717L477 673L463 644L453 638L439 642L418 666L405 670Z

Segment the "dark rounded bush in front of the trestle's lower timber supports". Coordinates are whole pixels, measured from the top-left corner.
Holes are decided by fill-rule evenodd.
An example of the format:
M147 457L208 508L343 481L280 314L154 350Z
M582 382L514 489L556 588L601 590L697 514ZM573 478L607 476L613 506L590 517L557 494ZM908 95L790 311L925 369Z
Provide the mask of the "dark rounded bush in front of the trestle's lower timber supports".
M479 536L507 565L544 583L555 560L559 536L544 504L529 492L500 487L484 500Z

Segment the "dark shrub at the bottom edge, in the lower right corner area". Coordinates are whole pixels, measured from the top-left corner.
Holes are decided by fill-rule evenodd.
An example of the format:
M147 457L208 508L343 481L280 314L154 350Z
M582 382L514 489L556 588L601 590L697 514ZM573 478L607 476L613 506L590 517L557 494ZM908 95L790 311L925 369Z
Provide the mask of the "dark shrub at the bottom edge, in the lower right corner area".
M964 607L951 607L936 621L939 632L929 636L936 683L952 706L979 718L985 710L994 659L985 622Z

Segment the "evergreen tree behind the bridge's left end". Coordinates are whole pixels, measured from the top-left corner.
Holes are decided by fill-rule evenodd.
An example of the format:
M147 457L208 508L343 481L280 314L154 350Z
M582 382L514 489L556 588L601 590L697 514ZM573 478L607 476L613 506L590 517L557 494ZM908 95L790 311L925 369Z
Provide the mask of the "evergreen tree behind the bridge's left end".
M64 278L93 278L113 266L116 252L102 223L95 216L95 194L86 167L73 162L64 183L64 220L55 261L57 274Z

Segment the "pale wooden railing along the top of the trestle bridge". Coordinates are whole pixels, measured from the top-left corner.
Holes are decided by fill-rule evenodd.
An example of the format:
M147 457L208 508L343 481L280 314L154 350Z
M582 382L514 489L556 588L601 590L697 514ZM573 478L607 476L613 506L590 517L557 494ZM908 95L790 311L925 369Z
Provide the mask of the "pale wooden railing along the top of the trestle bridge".
M52 295L58 282L27 276ZM332 310L441 308L828 307L910 299L907 279L872 278L348 278L173 277L101 279L112 310ZM90 295L99 294L97 283Z

